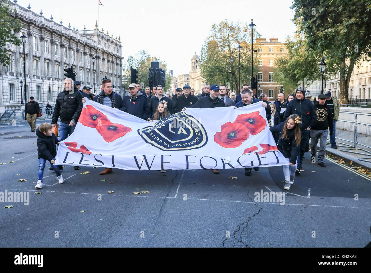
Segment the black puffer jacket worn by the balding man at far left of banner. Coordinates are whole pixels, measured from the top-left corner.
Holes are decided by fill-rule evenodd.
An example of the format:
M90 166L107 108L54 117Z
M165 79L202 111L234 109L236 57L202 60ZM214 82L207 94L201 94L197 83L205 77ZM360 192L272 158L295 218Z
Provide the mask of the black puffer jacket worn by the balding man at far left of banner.
M75 85L75 92L62 91L58 94L55 102L52 124L57 123L58 117L63 123L69 123L71 120L79 120L82 111L82 95Z

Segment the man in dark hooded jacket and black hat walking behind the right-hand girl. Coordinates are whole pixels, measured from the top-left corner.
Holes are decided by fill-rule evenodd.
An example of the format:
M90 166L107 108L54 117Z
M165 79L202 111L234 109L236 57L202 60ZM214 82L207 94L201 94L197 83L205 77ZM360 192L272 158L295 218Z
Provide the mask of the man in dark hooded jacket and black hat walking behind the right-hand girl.
M303 94L304 88L299 87L296 89L294 98L290 103L287 105L285 111L285 118L286 120L290 115L297 114L301 120L301 142L300 142L300 154L298 156L298 169L296 169L296 174L300 172L304 172L302 167L303 163L303 156L305 153L305 145L309 139L309 131L313 127L313 124L316 122L316 111L314 110L314 105L310 100L306 100Z

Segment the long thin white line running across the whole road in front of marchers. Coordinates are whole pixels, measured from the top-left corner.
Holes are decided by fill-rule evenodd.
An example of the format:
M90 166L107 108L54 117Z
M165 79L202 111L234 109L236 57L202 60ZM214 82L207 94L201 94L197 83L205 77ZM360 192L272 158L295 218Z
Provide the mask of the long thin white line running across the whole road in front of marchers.
M4 188L5 189L5 188ZM30 189L10 189L10 190L16 190L16 191L34 191ZM35 190L37 191L37 190ZM88 194L88 195L98 195L98 194L90 194L86 192L60 192L60 191L42 191L42 192L58 192L63 194ZM172 198L169 196L139 196L139 195L112 195L112 194L102 194L107 196L127 196L127 197L142 197L142 198ZM183 197L177 197L175 199L181 199L183 200ZM187 198L187 200L200 200L200 201L220 201L220 202L232 202L232 203L244 203L244 204L270 204L270 205L279 205L279 202L248 202L248 201L235 201L235 200L218 200L218 199L200 199L200 198ZM331 208L361 208L361 209L371 209L370 208L364 208L364 207L347 207L347 206L330 206L330 205L311 205L311 204L290 204L285 203L284 205L294 205L294 206L311 206L311 207L331 207Z

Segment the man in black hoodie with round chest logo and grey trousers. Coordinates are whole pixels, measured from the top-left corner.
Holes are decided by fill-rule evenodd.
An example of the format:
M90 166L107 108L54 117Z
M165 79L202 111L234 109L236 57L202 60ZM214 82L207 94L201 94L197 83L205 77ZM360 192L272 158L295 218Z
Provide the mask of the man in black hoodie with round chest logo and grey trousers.
M316 161L316 148L319 139L319 150L318 150L318 165L326 167L324 164L325 152L326 152L326 140L328 135L328 128L330 127L330 136L334 133L334 123L332 122L333 117L331 108L326 104L326 95L319 94L318 101L314 105L316 110L316 122L313 124L311 129L311 154L312 163Z

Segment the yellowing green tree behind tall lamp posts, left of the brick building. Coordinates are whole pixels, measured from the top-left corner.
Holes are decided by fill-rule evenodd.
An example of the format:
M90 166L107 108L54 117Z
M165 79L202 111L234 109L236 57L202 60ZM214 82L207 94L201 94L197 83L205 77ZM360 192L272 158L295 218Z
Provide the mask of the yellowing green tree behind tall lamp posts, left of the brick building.
M209 84L232 84L233 91L239 94L239 50L241 45L241 85L251 82L251 29L249 23L221 21L219 25L211 27L209 36L201 49L200 67L201 75ZM259 38L260 34L254 29L253 38ZM253 49L258 47L253 43ZM254 75L259 71L257 58L254 55ZM233 57L233 71L231 58ZM232 73L233 72L233 73ZM232 87L232 86L230 86ZM232 88L231 88L232 89Z

